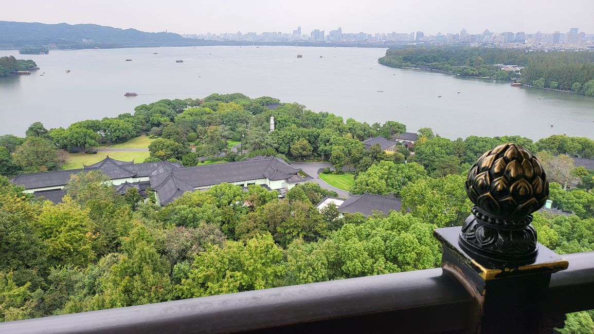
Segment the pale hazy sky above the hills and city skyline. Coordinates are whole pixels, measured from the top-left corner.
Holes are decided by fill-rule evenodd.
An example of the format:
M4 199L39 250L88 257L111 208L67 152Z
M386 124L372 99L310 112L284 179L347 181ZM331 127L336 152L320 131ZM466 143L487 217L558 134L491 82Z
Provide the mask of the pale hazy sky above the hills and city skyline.
M343 33L468 33L536 31L594 33L594 0L28 0L6 1L1 21L94 23L175 33L241 31L302 33L315 28ZM0 31L0 33L2 33Z

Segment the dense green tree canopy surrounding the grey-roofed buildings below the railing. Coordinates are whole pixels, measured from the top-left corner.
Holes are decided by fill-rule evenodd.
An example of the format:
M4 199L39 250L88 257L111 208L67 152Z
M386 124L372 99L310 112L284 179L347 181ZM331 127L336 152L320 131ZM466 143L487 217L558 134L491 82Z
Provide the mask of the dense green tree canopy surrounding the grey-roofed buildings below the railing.
M505 142L538 152L553 182L553 206L574 212L535 214L539 241L558 253L594 250L594 172L575 168L570 158L594 157L592 139L452 141L423 128L414 154L404 146L386 152L362 141L392 138L406 131L402 123L345 121L297 103L266 107L276 103L212 94L143 104L134 114L68 128L35 122L26 138L0 136L0 174L56 170L63 163L59 148L84 151L147 133L160 137L149 146L149 161L195 166L223 153L228 161L256 155L328 161L338 173L355 170L352 193L395 195L403 210L372 217L341 214L333 205L318 210L321 199L337 194L317 183L281 199L260 186L222 184L161 207L150 190L146 201L136 189L119 195L100 171L72 176L67 196L53 204L0 177L0 320L433 268L441 250L432 230L463 223L470 212L467 170ZM587 328L587 319L580 313L568 323Z

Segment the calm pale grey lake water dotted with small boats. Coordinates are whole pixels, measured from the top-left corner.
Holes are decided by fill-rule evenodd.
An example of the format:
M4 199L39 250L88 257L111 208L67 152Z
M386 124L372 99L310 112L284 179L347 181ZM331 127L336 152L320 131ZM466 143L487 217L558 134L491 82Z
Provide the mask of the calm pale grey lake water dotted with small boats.
M0 51L0 56L33 59L41 68L31 75L0 78L0 135L24 135L36 121L46 128L66 127L78 120L134 113L138 104L162 98L240 92L297 101L345 120L396 120L409 131L429 127L452 139L539 139L563 132L594 138L592 97L388 68L377 63L385 52L291 46L52 50L48 55ZM298 54L303 58L296 58ZM139 95L124 97L126 92Z

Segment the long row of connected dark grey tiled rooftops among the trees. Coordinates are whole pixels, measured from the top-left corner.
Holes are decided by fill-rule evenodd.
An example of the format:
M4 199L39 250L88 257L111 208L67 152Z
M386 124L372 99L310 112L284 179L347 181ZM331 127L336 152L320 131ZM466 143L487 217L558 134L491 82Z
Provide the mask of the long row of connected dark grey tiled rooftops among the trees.
M137 187L145 190L147 186L153 187L159 196L162 205L166 205L178 198L186 191L194 191L198 187L219 185L220 183L233 183L248 180L268 179L271 181L284 180L285 183L302 183L312 179L301 176L301 169L293 168L278 158L254 157L235 163L213 164L205 166L182 167L178 163L159 161L158 163L134 164L134 161L120 161L106 157L99 163L74 170L51 171L46 173L21 174L12 183L24 186L26 190L43 190L51 187L63 187L70 180L72 174L81 171L100 170L112 180L140 179L141 182L128 182L119 185L116 190L125 193L128 187ZM144 181L144 183L142 182ZM143 188L141 189L140 184ZM46 198L56 202L62 198L64 192L53 189L53 193L43 192ZM59 201L58 201L59 202Z

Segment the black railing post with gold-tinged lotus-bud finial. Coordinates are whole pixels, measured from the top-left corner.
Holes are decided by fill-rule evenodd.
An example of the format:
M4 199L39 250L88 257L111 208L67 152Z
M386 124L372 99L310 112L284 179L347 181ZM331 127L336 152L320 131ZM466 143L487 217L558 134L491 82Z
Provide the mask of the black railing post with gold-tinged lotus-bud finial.
M551 273L564 260L536 240L532 213L548 197L545 171L527 149L500 145L470 168L466 193L474 203L460 227L439 228L442 267L475 296L471 332L538 333Z

